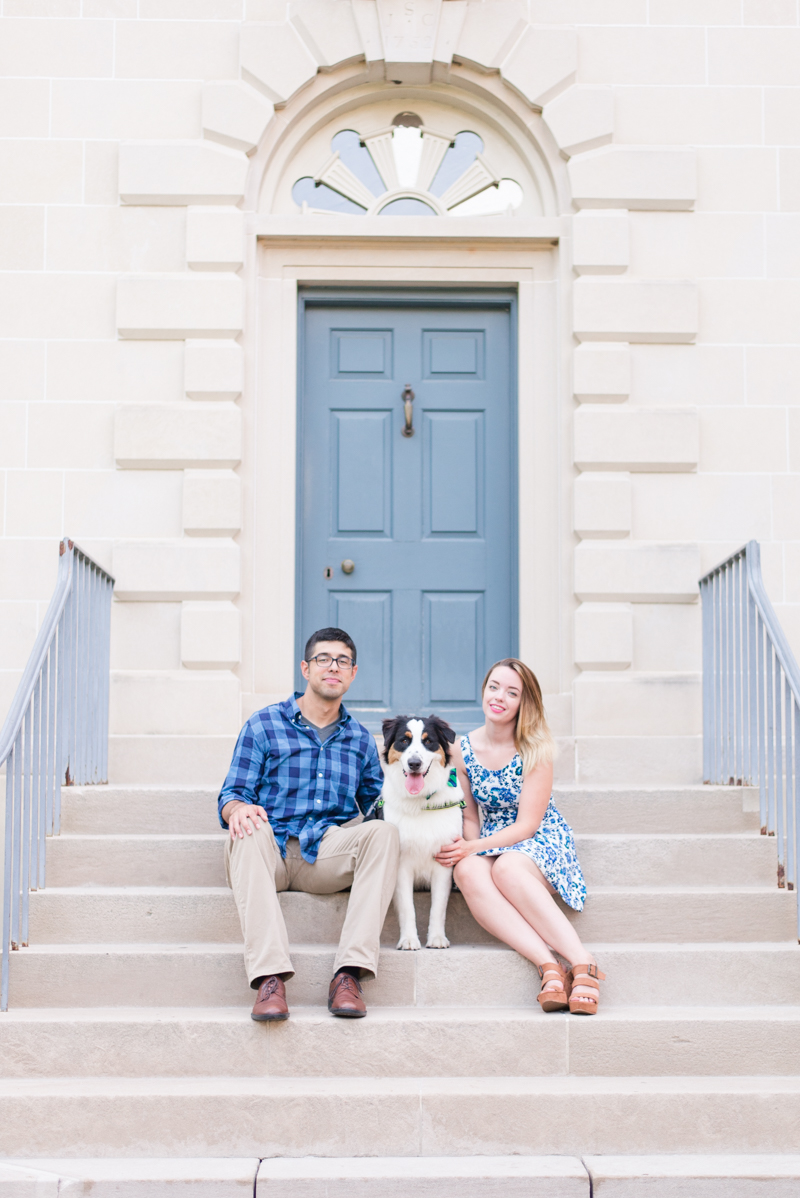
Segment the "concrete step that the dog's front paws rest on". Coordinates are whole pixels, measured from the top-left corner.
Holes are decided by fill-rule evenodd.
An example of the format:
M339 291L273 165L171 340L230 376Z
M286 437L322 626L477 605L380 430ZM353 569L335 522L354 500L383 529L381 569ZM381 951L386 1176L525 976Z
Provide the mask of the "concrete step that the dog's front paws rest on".
M604 973L602 1008L780 1006L800 994L796 943L592 943ZM331 945L295 945L292 1005L325 1006ZM501 945L383 949L364 984L374 1006L533 1006L539 975ZM69 1006L249 1006L240 944L31 944L11 955L11 1009ZM584 1021L586 1022L586 1021Z

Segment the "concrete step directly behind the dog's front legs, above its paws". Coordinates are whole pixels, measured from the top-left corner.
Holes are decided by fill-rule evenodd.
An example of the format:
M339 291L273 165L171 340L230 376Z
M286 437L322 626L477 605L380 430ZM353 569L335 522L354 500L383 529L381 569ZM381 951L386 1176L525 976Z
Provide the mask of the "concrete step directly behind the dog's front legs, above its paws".
M337 943L346 894L280 896L292 943ZM426 926L430 895L414 896L418 925ZM781 940L796 938L794 891L770 887L596 887L583 912L566 909L581 938L604 940ZM69 887L30 896L32 944L115 942L225 943L241 937L234 896L213 887ZM492 943L459 894L447 919L453 943ZM390 908L382 943L395 944Z

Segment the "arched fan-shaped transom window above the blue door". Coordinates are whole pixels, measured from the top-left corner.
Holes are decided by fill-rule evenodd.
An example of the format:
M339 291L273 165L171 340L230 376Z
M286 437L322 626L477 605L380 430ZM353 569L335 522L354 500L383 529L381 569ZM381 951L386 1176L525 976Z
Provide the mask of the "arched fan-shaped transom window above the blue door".
M495 170L479 133L442 133L407 111L372 133L340 128L291 195L303 213L428 217L510 216L525 199L517 180Z

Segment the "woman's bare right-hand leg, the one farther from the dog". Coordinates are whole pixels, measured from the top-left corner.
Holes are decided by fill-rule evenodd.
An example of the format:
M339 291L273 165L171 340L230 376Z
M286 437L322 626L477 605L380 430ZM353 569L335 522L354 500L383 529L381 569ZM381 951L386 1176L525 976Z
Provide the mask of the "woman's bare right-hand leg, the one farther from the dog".
M564 912L556 904L553 888L529 857L519 852L501 853L492 863L492 882L538 933L538 938L556 949L570 964L596 964ZM589 992L586 986L576 986L574 993L594 997L594 991Z

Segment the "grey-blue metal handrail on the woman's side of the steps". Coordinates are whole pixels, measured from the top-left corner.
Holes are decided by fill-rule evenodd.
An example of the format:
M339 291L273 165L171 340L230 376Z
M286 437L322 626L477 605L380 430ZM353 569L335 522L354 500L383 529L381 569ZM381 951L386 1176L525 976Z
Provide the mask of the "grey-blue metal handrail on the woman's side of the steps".
M800 667L750 540L699 580L703 599L703 779L758 785L777 884L798 889ZM800 939L800 904L798 908Z

